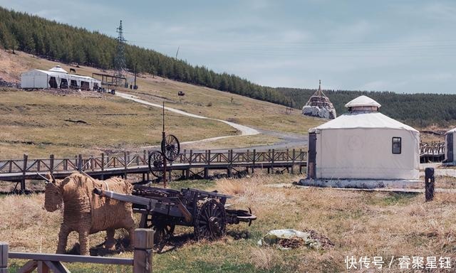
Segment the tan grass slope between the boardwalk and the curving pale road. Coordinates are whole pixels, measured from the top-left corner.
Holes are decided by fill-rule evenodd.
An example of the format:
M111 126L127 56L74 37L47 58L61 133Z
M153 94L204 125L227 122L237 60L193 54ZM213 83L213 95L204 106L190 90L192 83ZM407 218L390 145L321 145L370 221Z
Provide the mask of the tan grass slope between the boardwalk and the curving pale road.
M113 95L0 89L0 158L98 155L160 144L160 109ZM167 113L167 131L181 141L235 135L237 130L209 119ZM197 128L197 129L195 129ZM185 132L185 134L182 134Z

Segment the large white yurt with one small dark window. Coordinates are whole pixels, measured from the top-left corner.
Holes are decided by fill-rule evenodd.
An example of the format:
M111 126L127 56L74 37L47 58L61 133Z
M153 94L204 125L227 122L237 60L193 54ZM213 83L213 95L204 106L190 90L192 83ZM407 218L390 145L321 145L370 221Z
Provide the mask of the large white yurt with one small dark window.
M420 133L378 112L380 104L361 96L349 113L309 129L308 178L419 178Z

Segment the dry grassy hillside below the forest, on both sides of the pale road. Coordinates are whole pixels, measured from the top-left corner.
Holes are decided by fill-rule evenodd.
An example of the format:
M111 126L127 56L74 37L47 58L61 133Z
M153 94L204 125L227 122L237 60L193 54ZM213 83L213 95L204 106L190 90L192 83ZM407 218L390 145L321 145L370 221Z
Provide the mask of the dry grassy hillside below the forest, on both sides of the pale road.
M16 50L0 50L0 78L19 82L20 74L31 68L47 70L69 65L37 58ZM101 70L82 66L81 75L92 75ZM108 71L109 72L109 71ZM205 117L229 120L240 124L281 132L305 134L309 127L324 122L322 119L303 117L299 110L286 114L285 107L254 100L240 95L207 87L167 80L142 74L139 89L127 90L150 102L182 109ZM185 91L184 97L177 95ZM101 151L140 149L157 145L161 139L161 110L145 107L136 102L96 92L26 92L12 88L0 90L0 158L74 156L99 154ZM83 121L83 122L77 122ZM210 119L195 119L166 112L167 132L176 134L180 141L194 141L209 137L238 134L227 124ZM237 137L235 140L216 141L199 145L199 149L225 148L245 144L270 144L274 137L259 135Z

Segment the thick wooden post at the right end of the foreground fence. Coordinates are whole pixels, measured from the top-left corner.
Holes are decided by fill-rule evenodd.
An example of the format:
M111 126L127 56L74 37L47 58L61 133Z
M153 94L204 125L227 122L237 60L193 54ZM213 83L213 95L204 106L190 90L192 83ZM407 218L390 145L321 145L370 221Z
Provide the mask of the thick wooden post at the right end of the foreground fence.
M154 232L149 228L137 228L133 246L133 273L152 272L152 246Z

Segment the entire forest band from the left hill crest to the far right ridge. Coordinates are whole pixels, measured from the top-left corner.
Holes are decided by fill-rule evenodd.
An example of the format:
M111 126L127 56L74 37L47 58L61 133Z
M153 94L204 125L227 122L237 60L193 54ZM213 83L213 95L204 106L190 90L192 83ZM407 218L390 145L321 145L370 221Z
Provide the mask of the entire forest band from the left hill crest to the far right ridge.
M113 26L114 28L115 26ZM97 68L114 68L117 41L98 31L88 31L56 21L0 7L0 46L10 50ZM266 100L300 109L315 90L273 88L249 82L236 75L215 73L204 66L192 66L155 50L125 45L127 68L137 65L140 73L150 73L172 80L202 85L217 90ZM368 95L383 105L382 112L412 124L447 124L456 120L456 95L393 92L326 91L338 114L343 105L358 95Z

